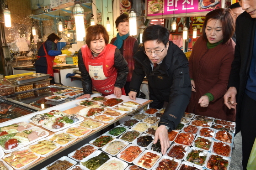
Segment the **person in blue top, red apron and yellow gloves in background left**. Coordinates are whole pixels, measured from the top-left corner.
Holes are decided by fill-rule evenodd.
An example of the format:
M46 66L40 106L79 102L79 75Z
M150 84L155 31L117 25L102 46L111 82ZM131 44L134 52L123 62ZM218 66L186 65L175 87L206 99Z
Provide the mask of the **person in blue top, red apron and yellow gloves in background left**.
M50 74L50 78L52 78L51 83L55 83L53 77L53 62L58 62L58 60L54 60L55 56L59 56L60 54L70 56L71 52L68 50L57 50L59 36L56 34L52 33L47 38L48 39L43 42L38 50L37 61L35 62L36 73Z

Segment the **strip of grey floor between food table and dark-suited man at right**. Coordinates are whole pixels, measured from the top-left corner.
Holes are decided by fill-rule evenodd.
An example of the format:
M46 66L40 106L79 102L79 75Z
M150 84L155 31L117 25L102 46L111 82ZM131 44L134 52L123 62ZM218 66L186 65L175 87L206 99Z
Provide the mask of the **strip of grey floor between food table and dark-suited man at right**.
M242 167L242 136L241 132L235 135L234 138L235 149L233 149L231 156L231 163L229 170L243 170Z

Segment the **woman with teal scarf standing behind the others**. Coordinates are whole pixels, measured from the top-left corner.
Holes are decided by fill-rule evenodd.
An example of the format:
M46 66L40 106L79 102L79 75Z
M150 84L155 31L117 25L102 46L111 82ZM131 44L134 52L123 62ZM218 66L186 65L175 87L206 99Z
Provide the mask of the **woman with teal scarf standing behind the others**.
M126 83L124 85L125 93L128 95L130 92L130 82L132 80L132 73L134 70L134 58L133 55L138 51L138 41L136 38L129 36L129 19L128 14L123 13L116 19L116 29L118 31L117 37L112 38L110 44L117 46L123 55L124 59L128 63L129 72Z

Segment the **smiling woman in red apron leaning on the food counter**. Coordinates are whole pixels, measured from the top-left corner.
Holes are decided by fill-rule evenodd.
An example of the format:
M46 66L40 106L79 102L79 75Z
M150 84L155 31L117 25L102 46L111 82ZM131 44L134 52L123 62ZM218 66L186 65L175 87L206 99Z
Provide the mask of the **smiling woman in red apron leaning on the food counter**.
M81 72L84 95L90 98L92 89L104 96L125 95L128 67L123 55L116 46L108 44L109 35L104 26L98 24L86 29L86 45L78 52L78 67Z

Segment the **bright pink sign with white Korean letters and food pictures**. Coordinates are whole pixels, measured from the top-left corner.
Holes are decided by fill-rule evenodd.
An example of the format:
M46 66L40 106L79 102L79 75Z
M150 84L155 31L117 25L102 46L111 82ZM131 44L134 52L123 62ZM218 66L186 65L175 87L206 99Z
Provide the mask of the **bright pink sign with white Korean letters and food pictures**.
M204 12L220 8L221 0L147 0L147 16Z

